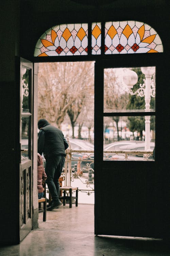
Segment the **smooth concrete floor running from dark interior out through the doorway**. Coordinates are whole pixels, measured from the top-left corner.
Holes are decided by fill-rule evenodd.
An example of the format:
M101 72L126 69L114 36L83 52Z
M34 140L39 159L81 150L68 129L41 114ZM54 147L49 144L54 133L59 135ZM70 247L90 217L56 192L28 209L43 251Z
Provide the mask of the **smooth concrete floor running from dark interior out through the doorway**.
M0 247L0 256L170 256L160 239L95 236L92 204L66 204L38 222L19 245Z

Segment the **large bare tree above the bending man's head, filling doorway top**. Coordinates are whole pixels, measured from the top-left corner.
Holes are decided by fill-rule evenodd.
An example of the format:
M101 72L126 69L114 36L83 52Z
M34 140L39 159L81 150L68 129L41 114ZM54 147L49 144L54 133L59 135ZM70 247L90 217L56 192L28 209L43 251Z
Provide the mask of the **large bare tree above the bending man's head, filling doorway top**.
M38 118L59 128L71 105L88 93L92 62L39 63Z

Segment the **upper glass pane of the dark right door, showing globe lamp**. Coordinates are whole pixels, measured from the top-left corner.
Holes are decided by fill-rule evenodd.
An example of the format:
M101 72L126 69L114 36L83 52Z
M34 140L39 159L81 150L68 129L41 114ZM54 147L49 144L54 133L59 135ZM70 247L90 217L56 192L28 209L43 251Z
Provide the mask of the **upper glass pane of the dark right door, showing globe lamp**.
M104 112L145 111L155 111L155 67L104 69Z

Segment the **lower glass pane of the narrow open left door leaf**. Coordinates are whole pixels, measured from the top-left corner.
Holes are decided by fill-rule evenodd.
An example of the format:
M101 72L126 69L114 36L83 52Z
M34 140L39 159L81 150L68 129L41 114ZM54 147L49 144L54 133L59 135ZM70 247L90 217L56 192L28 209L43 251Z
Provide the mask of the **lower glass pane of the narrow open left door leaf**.
M22 117L22 132L21 132L21 159L25 160L30 155L30 117Z

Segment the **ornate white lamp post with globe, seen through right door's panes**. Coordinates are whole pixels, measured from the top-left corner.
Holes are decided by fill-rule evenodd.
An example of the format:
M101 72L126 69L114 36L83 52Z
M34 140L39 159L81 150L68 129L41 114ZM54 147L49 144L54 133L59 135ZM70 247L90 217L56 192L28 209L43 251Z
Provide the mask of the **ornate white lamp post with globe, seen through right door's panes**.
M138 81L137 74L132 70L128 70L123 75L123 82L128 85L131 95L145 96L145 112L150 112L151 96L155 97L155 86L151 80L152 75L155 73L155 67L141 67L141 71L145 74L146 79L143 80L144 83L140 84L140 87L134 93L131 88ZM145 150L150 150L150 116L145 116Z

